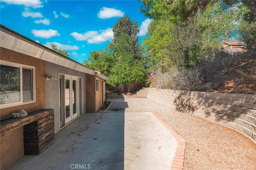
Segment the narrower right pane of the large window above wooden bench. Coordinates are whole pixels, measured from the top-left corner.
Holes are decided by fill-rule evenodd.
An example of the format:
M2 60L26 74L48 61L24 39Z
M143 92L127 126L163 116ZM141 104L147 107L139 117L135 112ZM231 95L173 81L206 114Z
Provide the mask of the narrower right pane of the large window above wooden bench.
M33 100L32 69L22 69L22 97L23 101Z

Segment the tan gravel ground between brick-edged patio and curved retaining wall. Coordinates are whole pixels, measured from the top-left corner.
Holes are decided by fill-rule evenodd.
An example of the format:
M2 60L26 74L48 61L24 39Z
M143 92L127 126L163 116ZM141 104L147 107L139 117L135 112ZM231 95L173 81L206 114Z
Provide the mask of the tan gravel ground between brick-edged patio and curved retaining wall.
M183 170L256 170L256 144L239 132L146 98L124 101L125 111L154 111L186 140Z

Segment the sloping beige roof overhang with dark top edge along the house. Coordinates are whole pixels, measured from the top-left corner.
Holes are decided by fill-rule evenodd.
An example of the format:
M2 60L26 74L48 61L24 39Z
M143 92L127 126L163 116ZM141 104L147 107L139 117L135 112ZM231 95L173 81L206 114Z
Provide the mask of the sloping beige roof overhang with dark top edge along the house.
M0 46L70 69L95 75L95 71L0 24ZM108 77L105 76L108 80Z

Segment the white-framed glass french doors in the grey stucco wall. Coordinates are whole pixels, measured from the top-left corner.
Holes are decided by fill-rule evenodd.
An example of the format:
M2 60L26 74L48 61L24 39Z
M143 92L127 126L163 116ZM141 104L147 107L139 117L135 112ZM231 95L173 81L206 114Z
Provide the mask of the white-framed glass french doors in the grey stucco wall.
M60 128L81 115L80 77L60 75Z

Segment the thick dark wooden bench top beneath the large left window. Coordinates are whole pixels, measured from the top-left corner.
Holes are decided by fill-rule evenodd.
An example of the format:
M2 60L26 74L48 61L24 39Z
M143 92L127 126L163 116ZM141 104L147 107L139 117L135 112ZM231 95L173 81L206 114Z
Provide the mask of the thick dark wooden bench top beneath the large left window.
M44 117L54 114L54 109L40 109L28 113L26 117L11 118L0 123L0 134L4 134L10 130L14 130L24 125L28 125L34 121L38 121Z

